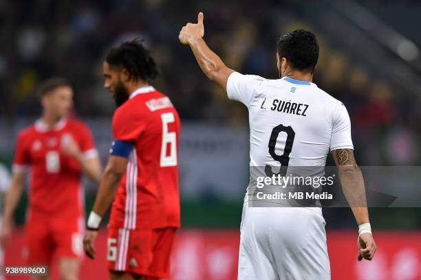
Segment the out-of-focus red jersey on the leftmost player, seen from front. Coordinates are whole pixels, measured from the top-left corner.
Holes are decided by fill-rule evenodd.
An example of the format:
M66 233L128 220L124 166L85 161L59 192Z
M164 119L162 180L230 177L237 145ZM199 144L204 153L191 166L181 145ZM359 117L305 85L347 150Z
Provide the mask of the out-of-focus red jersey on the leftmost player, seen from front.
M82 215L80 166L76 159L61 152L62 143L69 137L86 158L98 155L89 128L74 119L62 119L51 129L39 120L19 133L13 171L23 172L30 167L30 215Z

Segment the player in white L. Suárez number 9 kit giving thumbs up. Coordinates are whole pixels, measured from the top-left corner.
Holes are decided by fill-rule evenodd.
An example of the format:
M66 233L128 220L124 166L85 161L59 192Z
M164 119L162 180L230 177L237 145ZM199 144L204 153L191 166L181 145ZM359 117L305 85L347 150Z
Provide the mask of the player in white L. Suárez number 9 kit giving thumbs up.
M277 162L278 166L323 167L331 152L359 226L358 260L371 260L376 244L365 204L363 176L354 159L349 116L341 102L312 83L319 58L314 34L295 30L281 36L277 45L280 79L267 80L226 67L203 40L203 19L200 12L196 24L182 27L179 39L190 45L210 80L219 84L231 100L247 106L250 167L270 167ZM351 203L354 199L363 203ZM330 279L324 226L319 208L248 207L246 200L238 279Z

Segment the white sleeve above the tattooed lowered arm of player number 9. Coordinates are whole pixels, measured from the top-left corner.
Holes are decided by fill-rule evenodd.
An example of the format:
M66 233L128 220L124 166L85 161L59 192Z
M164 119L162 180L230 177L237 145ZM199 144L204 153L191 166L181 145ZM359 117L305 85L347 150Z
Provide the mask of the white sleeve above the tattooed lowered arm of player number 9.
M347 108L342 103L332 106L332 136L330 151L338 149L352 149L351 120Z

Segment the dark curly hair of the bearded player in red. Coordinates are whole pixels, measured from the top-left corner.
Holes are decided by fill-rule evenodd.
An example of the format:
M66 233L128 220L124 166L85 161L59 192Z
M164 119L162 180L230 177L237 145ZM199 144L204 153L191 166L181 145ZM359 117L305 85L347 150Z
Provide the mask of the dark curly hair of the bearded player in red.
M134 80L146 81L158 75L155 60L138 38L111 48L105 61L111 66L127 69Z

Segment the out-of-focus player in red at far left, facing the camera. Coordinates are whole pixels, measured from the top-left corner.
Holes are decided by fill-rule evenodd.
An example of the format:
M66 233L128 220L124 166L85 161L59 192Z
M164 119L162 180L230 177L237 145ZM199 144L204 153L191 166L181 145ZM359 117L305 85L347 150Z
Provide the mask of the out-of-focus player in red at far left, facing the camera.
M78 279L83 235L81 174L100 178L100 161L89 128L67 118L73 91L63 78L52 78L39 88L43 115L19 133L12 181L6 195L1 243L12 234L12 217L30 168L29 211L25 225L27 264L50 265L59 259L61 279ZM39 277L43 279L43 277Z

